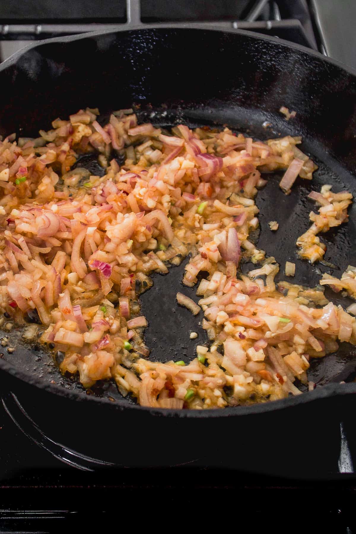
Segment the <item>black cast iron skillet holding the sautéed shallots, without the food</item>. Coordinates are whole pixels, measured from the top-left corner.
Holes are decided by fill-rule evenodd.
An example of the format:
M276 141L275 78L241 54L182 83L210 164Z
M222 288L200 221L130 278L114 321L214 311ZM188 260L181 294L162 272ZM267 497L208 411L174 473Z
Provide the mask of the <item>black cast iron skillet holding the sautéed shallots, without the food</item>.
M279 178L271 176L257 197L259 246L282 266L280 279L284 263L290 260L296 263L296 283L308 286L317 284L321 271L340 276L348 264L356 264L354 206L347 224L322 237L328 247L326 260L336 265L334 270L300 261L295 251L296 238L307 229L308 213L314 207L306 199L309 191L330 183L335 191L356 193L356 74L336 61L303 46L242 30L147 26L30 45L0 66L0 87L3 135L16 131L34 136L39 129L50 128L57 116L65 118L86 106L99 107L104 117L113 109L132 105L139 121L164 127L180 122L191 127L226 124L260 139L302 135L302 150L313 156L319 170L312 183L298 179L287 197L278 187ZM295 119L287 122L279 113L281 105L296 110ZM279 222L278 232L268 229L271 220ZM198 324L201 317L194 319L176 306L177 290L183 289L181 272L182 266L172 268L166 277L155 276L154 287L141 300L149 321L146 342L151 357L162 361L193 357L196 342L189 340L191 331L199 332L197 342L205 341ZM184 288L184 292L194 296L194 289ZM87 439L88 425L91 436L94 429L100 433L99 428L112 428L113 421L115 432L135 429L136 438L128 447L130 459L120 460L126 465L171 461L163 460L157 454L160 447L152 446L167 439L182 452L191 449L192 439L187 436L199 435L201 443L202 436L209 435L211 445L212 438L219 441L227 428L250 432L265 425L271 430L287 421L294 425L313 418L327 424L330 414L348 406L356 392L352 382L356 351L345 345L337 354L313 362L310 378L318 387L304 395L226 410L157 411L122 398L113 384L85 394L80 384L59 374L39 343L23 345L15 335L10 334L10 339L16 350L12 354L2 350L0 368L35 386L28 389L17 381L19 395L26 391L27 402L33 402L31 413L43 410L43 420L53 421L59 436L71 421L71 432L85 436L87 444L94 441ZM350 383L339 384L345 380ZM60 419L48 416L48 406ZM115 454L114 447L109 461Z

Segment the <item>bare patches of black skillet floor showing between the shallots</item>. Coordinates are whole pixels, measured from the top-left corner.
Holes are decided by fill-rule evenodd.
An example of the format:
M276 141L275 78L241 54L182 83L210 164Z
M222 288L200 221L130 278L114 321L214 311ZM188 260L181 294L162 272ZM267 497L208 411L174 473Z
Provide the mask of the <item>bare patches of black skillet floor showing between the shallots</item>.
M141 120L153 120L157 123L160 114L152 112L149 117L145 113L139 113ZM156 119L156 121L154 120ZM184 117L180 117L183 122ZM102 121L101 121L102 122ZM162 125L158 122L158 124ZM169 124L163 124L168 128ZM195 127L197 124L190 124ZM243 130L245 133L254 135L254 129ZM267 128L262 138L268 138L278 135L273 129ZM307 151L305 144L302 150ZM313 156L312 156L313 157ZM307 199L307 195L312 190L320 190L322 184L333 184L333 190L342 191L347 188L353 194L356 194L356 188L352 182L343 182L342 178L331 170L326 164L314 157L318 163L319 169L314 173L312 182L298 178L290 195L285 195L279 188L281 175L269 175L267 185L257 194L257 206L260 209L260 234L258 246L266 251L267 256L274 256L279 262L281 269L276 277L276 281L287 280L309 287L315 287L320 280L322 272L328 272L335 276L341 276L347 265L356 264L356 250L353 247L353 236L356 233L354 217L354 207L350 209L350 221L322 234L321 239L327 244L327 253L325 260L334 263L337 269L331 269L318 263L310 263L299 260L296 253L295 242L310 225L308 214L315 208L315 203ZM98 165L96 158L93 156L82 156L75 166L86 167L91 172L98 174L102 168ZM268 222L276 220L279 222L279 230L271 232ZM145 342L152 350L150 358L156 361L167 362L168 360L183 359L186 363L195 357L195 347L197 344L207 343L207 336L201 327L203 312L201 311L196 317L192 316L186 308L178 306L176 294L178 291L185 293L193 300L197 301L195 295L196 287L189 288L181 284L183 278L184 266L188 258L185 258L180 266L171 266L167 275L158 273L153 274L154 285L146 293L141 295L141 311L148 319L149 326L145 332ZM284 276L284 264L286 261L296 263L296 276L289 278ZM252 264L243 264L242 271L247 272L253 268ZM326 289L326 295L336 304L348 305L351 299L344 299L335 294L331 289ZM191 332L198 333L195 340L189 338ZM36 374L44 380L54 380L66 389L76 389L84 391L77 380L68 377L62 377L53 363L53 358L49 357L48 352L43 349L43 345L38 341L35 346L23 345L18 338L20 331L8 335L10 339L17 339L16 343L21 344L21 350L17 349L12 354L4 351L3 358L20 368L25 368L31 374ZM11 343L10 343L11 344ZM22 348L23 347L23 348ZM52 354L54 356L54 353ZM54 361L56 357L54 356ZM60 363L60 361L58 362ZM356 349L346 343L341 344L336 354L329 355L326 358L315 358L308 371L310 380L318 385L330 381L339 382L342 380L353 379L356 370ZM126 402L118 394L114 384L102 382L97 384L91 390L93 395L102 395L116 399L118 402ZM132 402L131 399L129 402Z

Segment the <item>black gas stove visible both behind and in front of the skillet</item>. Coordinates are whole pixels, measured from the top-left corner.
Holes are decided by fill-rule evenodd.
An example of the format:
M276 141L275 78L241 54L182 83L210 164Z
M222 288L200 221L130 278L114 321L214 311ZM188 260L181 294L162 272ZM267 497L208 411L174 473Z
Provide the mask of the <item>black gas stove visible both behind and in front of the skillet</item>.
M273 35L356 67L354 20L356 4L347 0L342 6L332 0L203 0L195 4L191 0L127 0L102 1L100 8L92 0L42 0L20 6L9 0L0 3L0 59L48 37L148 23L199 22L202 27ZM185 507L195 506L200 500L209 502L223 489L230 490L224 493L225 510L239 503L258 519L282 508L294 510L292 518L294 506L300 507L299 517L300 511L306 517L317 492L319 527L327 517L328 531L356 532L352 517L356 430L351 417L330 417L327 427L314 421L313 428L281 429L280 449L267 440L262 444L247 441L243 468L231 437L223 437L220 449L209 453L202 444L189 444L192 453L172 460L170 467L138 468L132 462L119 466L96 457L90 447L84 451L73 442L70 431L62 436L53 433L31 410L35 389L9 381L3 372L0 391L2 532L48 532L53 521L62 528L66 520L75 528L83 518L88 519L91 506L108 513L120 501L122 509L131 511L133 499L140 500L144 515L157 505L157 494L162 504L172 506L180 499ZM58 417L54 405L52 413ZM300 442L298 434L303 437ZM307 450L305 436L310 443ZM123 445L119 441L117 446Z

